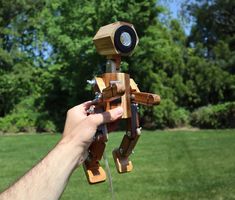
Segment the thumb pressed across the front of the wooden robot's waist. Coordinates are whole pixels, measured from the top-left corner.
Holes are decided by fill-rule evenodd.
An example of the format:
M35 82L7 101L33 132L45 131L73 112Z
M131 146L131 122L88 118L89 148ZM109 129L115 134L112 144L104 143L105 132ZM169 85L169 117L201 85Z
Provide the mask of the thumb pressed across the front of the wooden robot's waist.
M103 112L103 113L98 113L98 114L93 114L90 115L92 117L92 121L99 126L100 124L105 124L109 122L113 122L120 118L123 114L123 109L122 107L117 107L114 109L111 109L109 111Z

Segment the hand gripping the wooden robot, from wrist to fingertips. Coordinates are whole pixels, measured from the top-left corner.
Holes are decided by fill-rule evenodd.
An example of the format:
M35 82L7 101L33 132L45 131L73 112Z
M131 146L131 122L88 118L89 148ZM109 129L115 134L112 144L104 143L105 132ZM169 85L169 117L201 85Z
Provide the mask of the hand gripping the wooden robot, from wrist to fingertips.
M117 120L123 114L121 107L109 110L107 112L90 114L87 116L87 110L92 105L91 101L85 102L71 108L67 112L65 128L63 132L62 143L70 142L75 145L84 157L88 147L93 141L93 137L99 125Z

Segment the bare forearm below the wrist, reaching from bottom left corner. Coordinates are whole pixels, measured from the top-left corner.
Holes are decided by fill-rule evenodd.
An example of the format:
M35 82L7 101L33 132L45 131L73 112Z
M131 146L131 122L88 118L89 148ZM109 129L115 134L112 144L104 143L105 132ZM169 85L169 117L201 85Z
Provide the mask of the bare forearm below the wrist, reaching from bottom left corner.
M33 169L3 192L0 199L58 199L69 176L83 160L83 148L64 138Z

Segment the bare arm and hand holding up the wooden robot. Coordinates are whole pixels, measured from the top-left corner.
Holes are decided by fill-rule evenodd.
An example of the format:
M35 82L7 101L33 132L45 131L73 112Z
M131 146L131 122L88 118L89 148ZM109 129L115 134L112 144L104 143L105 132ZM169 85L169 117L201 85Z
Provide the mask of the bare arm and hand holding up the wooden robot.
M63 193L70 175L86 159L96 129L122 116L121 107L87 116L91 101L67 112L58 144L35 167L0 194L0 200L54 200Z

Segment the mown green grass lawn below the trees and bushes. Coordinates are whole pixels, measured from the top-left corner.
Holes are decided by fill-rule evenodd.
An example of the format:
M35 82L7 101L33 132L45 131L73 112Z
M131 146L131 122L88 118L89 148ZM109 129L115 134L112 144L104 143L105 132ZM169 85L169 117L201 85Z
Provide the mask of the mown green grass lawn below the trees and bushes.
M122 136L111 134L107 144L116 200L235 199L235 130L143 131L131 157L134 170L127 174L116 172L111 153ZM45 156L59 138L0 137L0 191ZM106 200L111 195L108 182L89 185L80 167L62 199Z

